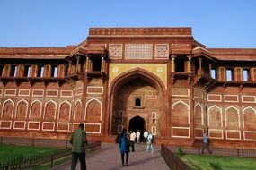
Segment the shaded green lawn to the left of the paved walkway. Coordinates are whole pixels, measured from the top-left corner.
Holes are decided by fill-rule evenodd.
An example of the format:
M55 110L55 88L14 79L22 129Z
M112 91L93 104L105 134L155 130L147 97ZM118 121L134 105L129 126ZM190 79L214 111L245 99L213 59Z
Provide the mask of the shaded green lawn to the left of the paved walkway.
M16 145L0 145L0 160L1 162L8 161L14 157L30 157L40 155L42 153L54 153L61 148L50 147L31 147L31 146L16 146Z

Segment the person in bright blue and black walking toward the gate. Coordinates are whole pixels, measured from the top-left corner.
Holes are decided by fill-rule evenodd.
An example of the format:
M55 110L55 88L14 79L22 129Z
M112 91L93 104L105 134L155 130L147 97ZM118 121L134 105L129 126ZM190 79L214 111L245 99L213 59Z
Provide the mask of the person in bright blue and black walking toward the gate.
M125 154L126 154L126 165L128 166L128 154L129 154L129 138L127 130L123 129L122 133L119 134L119 148L121 152L122 164L124 164Z

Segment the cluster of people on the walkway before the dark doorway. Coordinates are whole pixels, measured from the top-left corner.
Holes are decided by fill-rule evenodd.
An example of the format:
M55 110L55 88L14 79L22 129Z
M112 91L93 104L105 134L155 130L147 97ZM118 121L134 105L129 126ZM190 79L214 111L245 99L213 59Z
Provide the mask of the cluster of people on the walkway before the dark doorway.
M151 153L154 153L154 136L152 135L151 132L144 132L143 137L146 141L146 152L151 150ZM137 132L131 131L130 134L128 135L128 132L126 129L123 129L122 132L117 136L116 142L119 143L119 149L121 153L121 161L122 165L125 166L125 156L126 156L126 166L128 166L128 157L129 157L129 152L130 152L130 147L131 151L135 151L135 141L137 143L140 142L140 132L137 130Z

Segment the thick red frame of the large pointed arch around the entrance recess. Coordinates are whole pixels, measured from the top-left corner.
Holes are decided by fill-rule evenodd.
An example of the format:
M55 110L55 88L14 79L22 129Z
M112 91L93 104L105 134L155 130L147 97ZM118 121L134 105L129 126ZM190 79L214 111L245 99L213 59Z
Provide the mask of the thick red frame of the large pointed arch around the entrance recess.
M146 84L148 84L149 86L151 86L153 89L155 89L156 92L156 96L157 98L159 98L159 100L164 100L166 101L166 98L168 98L167 95L167 90L166 90L166 86L164 85L163 81L154 74L154 72L149 72L146 71L145 69L136 67L133 69L128 70L127 72L122 72L120 73L117 77L115 77L111 82L110 82L110 87L109 87L109 91L108 91L108 98L109 98L109 103L108 103L108 114L106 117L106 125L108 127L106 127L105 129L108 130L109 134L115 133L116 128L114 126L118 126L119 124L117 123L117 113L119 112L118 110L115 110L115 98L117 92L119 92L119 90L121 90L122 87L128 85L128 84L132 84L131 82L133 81L144 81ZM161 127L159 127L159 134L167 134L169 130L164 129L163 127L165 126L165 124L167 122L170 122L170 120L166 120L165 117L167 116L167 108L164 105L164 103L162 102L161 104L163 104L162 107L162 117L160 117L159 119L163 120L163 123L161 123ZM126 112L126 114L128 114ZM130 118L130 117L126 117L126 118ZM128 125L128 124L123 124L123 125ZM125 126L124 126L125 127Z

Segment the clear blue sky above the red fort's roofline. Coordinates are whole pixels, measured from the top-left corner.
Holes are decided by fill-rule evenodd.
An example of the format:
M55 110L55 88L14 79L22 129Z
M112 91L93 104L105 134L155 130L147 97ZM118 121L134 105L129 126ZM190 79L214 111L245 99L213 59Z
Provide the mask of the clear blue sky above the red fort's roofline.
M191 27L207 47L256 47L255 0L1 0L0 47L66 47L90 27Z

